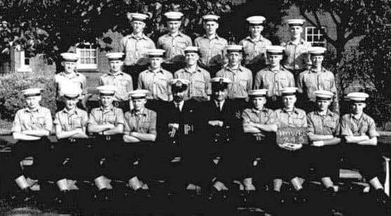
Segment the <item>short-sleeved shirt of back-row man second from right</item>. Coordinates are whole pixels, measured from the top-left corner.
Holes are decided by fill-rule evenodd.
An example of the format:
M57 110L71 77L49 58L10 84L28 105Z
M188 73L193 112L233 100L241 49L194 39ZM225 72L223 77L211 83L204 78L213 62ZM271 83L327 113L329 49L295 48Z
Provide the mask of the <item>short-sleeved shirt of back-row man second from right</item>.
M257 62L266 63L266 46L271 46L272 43L263 36L257 41L247 36L239 45L243 46L245 65L252 65Z

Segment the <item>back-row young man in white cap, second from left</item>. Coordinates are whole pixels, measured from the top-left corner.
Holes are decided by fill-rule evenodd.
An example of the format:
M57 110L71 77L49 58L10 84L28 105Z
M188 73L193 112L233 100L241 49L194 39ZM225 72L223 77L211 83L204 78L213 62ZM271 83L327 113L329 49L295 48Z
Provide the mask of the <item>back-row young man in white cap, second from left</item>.
M178 69L184 67L184 49L192 46L193 42L189 36L180 32L183 13L170 11L164 15L167 19L169 32L159 37L157 46L165 50L163 68L174 74Z

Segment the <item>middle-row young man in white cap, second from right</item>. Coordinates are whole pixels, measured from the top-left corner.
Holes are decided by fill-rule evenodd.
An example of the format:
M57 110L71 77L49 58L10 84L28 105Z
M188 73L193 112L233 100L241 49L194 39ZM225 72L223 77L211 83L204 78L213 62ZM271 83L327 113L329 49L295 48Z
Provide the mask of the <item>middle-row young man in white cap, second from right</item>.
M278 109L281 104L281 90L287 87L294 87L294 76L280 65L282 46L268 46L268 62L270 65L256 73L254 89L266 88L268 97L266 104L270 109Z

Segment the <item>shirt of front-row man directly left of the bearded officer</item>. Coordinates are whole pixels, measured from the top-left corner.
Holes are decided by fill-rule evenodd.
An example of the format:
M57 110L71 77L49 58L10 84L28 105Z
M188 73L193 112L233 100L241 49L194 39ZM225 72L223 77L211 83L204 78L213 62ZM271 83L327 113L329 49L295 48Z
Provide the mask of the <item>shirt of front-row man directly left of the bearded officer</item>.
M123 133L129 135L131 132L156 135L156 112L146 108L142 112L135 112L135 109L125 112Z

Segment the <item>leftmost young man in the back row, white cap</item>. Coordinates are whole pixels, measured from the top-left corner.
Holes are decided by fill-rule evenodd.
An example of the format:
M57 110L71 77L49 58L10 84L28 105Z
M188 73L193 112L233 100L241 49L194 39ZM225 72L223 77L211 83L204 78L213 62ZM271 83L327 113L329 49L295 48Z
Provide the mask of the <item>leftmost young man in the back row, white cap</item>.
M123 72L132 76L133 89L137 88L139 73L148 67L148 50L156 48L155 43L144 34L148 17L142 13L128 13L133 32L120 42L119 52L125 53Z

